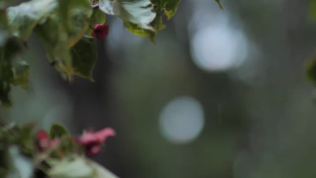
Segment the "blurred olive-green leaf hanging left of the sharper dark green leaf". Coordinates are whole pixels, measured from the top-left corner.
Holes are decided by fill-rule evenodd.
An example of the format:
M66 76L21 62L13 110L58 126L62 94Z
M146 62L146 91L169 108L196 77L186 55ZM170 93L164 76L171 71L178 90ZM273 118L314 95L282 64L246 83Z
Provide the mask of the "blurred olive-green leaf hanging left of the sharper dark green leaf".
M92 14L89 0L59 0L56 14L39 24L35 31L43 41L47 58L58 71L72 75L71 47L86 32Z

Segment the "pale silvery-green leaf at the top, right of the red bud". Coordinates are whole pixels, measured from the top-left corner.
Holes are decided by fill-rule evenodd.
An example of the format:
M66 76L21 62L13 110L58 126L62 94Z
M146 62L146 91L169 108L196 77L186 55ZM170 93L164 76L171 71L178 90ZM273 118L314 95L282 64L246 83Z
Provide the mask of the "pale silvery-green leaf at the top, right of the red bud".
M150 0L100 0L99 8L143 29L155 31L150 25L156 17L154 5Z

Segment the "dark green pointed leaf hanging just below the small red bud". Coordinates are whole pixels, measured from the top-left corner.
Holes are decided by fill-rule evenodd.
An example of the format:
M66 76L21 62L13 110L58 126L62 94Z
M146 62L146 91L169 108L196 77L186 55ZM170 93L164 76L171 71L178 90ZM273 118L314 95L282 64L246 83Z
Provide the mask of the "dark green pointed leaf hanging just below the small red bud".
M81 40L71 48L73 57L72 75L77 75L93 81L92 73L97 60L97 44L92 37L83 36Z

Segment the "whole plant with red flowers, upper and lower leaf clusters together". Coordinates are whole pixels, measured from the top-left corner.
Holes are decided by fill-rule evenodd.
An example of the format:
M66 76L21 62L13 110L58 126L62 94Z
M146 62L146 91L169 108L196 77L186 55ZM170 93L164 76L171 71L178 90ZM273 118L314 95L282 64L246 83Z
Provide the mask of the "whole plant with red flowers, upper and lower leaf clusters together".
M216 0L219 4L219 0ZM156 43L181 0L15 0L0 1L0 105L10 106L11 86L28 87L30 67L24 60L34 33L45 47L48 61L71 80L76 75L93 82L97 40L109 33L106 14L124 21L133 34ZM222 5L220 4L222 8ZM101 150L111 128L72 136L59 124L49 134L34 125L0 127L1 178L116 178L88 159Z

